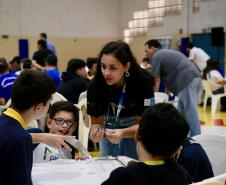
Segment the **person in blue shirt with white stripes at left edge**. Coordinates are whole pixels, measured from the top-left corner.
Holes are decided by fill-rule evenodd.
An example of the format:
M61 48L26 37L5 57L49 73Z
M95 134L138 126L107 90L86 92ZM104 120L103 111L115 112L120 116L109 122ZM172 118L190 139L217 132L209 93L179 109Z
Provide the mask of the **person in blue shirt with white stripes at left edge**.
M11 91L17 75L9 71L5 58L0 58L0 105L5 105L11 97Z

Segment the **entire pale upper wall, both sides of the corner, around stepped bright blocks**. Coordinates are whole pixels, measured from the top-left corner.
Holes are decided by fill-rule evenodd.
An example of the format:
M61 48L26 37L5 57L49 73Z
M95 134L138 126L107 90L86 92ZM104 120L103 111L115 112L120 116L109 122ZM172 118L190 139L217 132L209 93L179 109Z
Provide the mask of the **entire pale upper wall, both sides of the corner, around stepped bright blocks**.
M190 4L188 8L188 4ZM200 33L203 28L226 27L226 1L201 0L192 13L192 1L183 0L183 13L164 18L163 27L151 27L148 36ZM55 37L122 37L133 12L148 8L148 0L0 0L0 35Z

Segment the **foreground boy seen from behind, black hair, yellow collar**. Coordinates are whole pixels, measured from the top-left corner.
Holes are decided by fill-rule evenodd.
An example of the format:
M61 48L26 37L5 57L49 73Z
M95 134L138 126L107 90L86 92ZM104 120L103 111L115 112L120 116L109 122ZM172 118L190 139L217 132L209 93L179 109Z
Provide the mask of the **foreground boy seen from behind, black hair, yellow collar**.
M139 161L111 172L102 185L185 185L188 172L173 159L189 132L185 118L171 104L148 107L136 132Z

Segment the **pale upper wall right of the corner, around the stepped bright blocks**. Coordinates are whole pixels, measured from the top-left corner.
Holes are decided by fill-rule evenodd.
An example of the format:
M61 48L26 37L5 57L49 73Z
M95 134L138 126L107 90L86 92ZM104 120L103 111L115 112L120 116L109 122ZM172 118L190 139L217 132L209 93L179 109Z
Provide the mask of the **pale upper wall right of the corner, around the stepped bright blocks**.
M148 0L121 0L121 34L128 27L133 12L145 10ZM183 0L181 15L164 17L162 27L150 27L147 36L161 37L179 34L182 28L184 33L201 33L203 28L223 26L226 28L226 0L201 0L200 12L192 13L192 0ZM225 29L226 30L226 29Z

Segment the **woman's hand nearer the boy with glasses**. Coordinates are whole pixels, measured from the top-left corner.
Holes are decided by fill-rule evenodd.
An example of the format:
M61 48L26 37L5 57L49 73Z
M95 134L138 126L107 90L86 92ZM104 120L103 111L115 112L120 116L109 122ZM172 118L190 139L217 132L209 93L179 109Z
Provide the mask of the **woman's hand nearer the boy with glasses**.
M94 124L91 126L89 138L93 142L100 142L104 137L104 128L99 124Z

